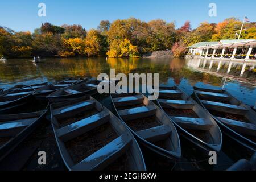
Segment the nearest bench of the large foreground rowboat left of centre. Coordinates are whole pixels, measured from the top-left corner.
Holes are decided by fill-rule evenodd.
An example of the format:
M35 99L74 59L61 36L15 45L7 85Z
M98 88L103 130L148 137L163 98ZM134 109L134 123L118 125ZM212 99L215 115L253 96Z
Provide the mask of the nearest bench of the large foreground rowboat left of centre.
M103 170L109 164L113 163L119 157L121 157L130 148L132 140L129 134L125 133L120 137L114 139L112 142L106 144L100 150L94 152L80 163L75 164L72 167L74 171L86 171L91 170Z

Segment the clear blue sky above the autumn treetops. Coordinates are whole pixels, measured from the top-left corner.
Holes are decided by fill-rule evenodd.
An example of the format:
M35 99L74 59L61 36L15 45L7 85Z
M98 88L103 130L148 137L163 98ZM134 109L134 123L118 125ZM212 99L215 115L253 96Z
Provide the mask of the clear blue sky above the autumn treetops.
M38 4L46 4L46 17L38 16ZM209 3L216 3L217 17L208 15ZM34 31L41 22L56 25L81 24L89 30L97 28L101 20L139 18L144 21L164 19L175 22L177 27L186 20L192 28L200 22L218 23L225 18L243 19L247 15L256 22L255 0L1 0L0 26L15 31Z

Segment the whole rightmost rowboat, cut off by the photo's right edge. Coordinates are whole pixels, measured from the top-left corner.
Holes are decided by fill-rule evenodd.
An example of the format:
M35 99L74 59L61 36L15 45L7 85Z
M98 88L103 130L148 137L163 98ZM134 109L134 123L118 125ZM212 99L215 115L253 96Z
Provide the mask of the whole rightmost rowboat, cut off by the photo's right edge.
M194 87L197 101L213 115L222 131L251 152L256 150L256 113L222 89Z

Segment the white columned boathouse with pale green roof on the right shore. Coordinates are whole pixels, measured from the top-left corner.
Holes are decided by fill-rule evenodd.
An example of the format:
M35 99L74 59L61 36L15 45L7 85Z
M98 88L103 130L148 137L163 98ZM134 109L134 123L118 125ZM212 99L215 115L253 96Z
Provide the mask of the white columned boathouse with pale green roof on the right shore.
M188 55L206 59L255 60L255 39L232 39L220 42L199 42L188 47Z

